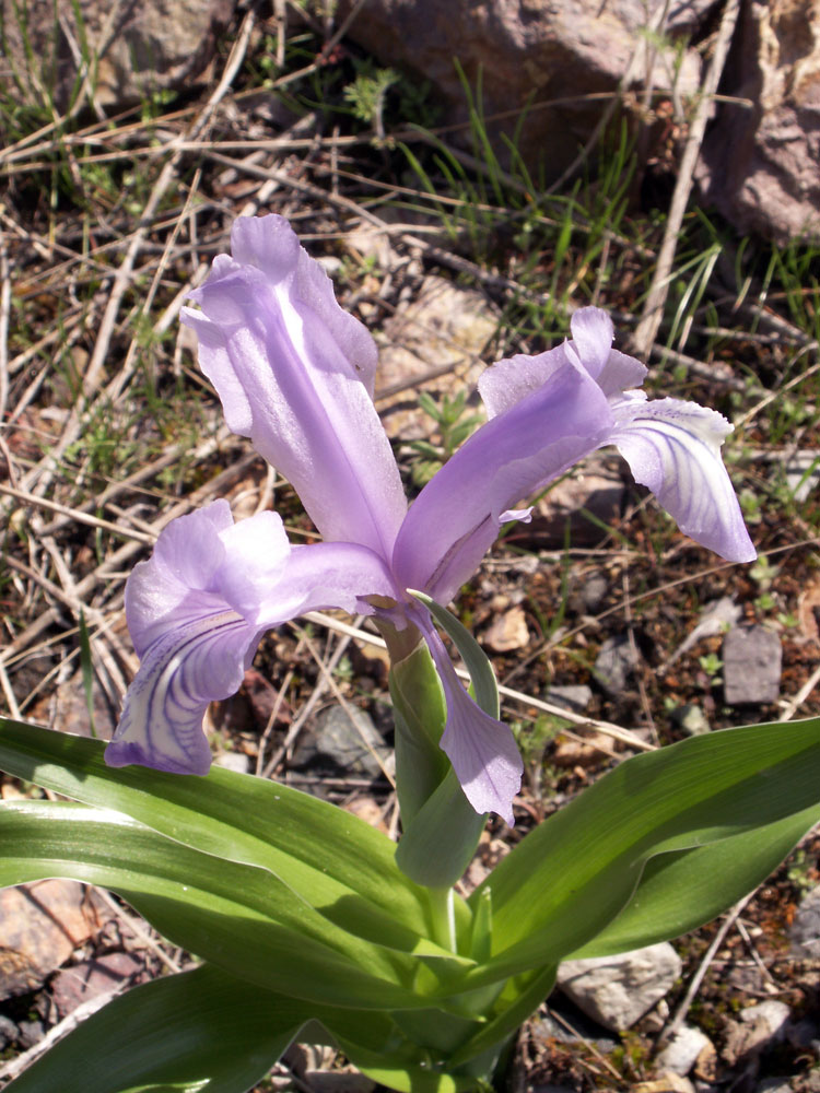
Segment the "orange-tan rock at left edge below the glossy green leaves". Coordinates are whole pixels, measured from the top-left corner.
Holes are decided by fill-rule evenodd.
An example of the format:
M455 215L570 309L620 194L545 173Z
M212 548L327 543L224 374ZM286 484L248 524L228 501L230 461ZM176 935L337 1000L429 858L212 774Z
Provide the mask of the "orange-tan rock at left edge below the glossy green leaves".
M42 987L107 917L107 908L78 881L36 881L0 891L0 999Z

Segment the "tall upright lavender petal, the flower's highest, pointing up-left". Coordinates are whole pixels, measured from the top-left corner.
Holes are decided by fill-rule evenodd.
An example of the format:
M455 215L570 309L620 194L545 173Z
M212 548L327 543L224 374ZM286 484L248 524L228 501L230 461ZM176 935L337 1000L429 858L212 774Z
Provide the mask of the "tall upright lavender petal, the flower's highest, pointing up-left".
M239 218L183 310L234 432L293 484L328 540L390 556L406 512L372 401L376 349L281 216Z

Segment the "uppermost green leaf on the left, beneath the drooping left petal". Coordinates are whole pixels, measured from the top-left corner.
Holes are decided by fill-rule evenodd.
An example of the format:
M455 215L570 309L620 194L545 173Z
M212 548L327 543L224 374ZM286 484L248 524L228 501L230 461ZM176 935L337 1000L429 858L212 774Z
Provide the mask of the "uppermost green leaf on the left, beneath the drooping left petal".
M214 767L206 778L110 769L104 745L0 718L0 769L115 809L195 849L270 870L330 921L413 951L429 900L396 866L395 844L332 804Z

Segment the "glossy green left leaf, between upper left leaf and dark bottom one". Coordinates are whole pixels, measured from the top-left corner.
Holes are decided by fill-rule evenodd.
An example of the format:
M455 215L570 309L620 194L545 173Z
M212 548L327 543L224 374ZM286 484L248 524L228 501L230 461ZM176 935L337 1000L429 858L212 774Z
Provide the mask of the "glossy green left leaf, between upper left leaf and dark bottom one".
M257 986L337 1006L430 1004L409 987L412 957L335 926L263 869L202 854L119 813L4 804L0 886L46 877L117 892L171 941Z

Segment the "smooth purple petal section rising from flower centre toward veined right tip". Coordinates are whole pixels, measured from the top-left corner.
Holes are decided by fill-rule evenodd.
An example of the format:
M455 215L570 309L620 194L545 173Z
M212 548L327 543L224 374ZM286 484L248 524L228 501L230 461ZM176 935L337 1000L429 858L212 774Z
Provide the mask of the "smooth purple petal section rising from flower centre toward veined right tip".
M607 399L560 349L554 357L542 354L550 360L542 369L546 379L535 389L539 359L532 369L531 359L501 362L501 379L519 396L512 403L501 398L493 375L499 366L489 369L482 393L491 391L496 414L431 479L410 508L394 551L394 572L402 587L449 602L489 550L502 517L519 513L518 501L608 436L612 415ZM519 361L525 377L516 386Z

